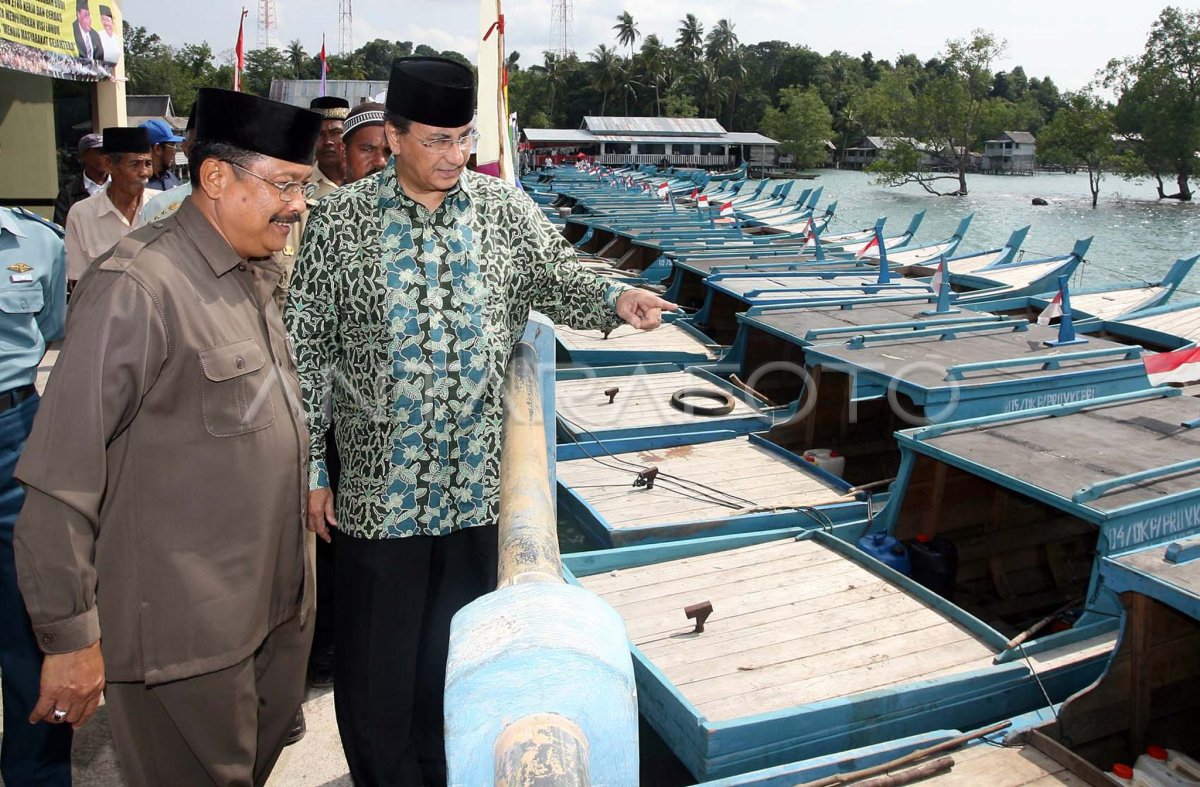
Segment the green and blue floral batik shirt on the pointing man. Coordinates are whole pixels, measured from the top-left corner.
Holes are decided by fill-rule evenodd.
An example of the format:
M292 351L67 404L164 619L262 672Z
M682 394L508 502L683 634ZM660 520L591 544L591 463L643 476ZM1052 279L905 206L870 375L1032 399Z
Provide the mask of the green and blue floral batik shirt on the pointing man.
M332 402L338 529L395 539L493 524L504 367L529 311L610 329L624 289L496 178L464 172L431 212L391 162L318 202L284 323L313 435L310 488L329 486Z

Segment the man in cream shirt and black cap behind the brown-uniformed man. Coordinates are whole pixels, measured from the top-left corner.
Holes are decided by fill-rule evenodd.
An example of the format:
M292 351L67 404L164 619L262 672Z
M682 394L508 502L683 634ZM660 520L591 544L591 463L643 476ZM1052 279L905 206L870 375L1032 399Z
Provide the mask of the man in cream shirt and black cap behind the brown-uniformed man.
M145 128L104 130L108 185L76 203L67 214L67 286L109 248L142 226L142 209L158 192L146 188L154 173Z

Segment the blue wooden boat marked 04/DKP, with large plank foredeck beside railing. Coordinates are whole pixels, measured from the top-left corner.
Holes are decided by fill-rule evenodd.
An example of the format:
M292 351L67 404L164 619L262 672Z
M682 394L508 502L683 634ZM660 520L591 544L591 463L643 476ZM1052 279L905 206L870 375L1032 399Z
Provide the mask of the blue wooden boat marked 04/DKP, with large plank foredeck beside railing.
M1121 605L1097 557L1200 531L1195 415L1156 390L920 427L872 521L564 565L624 619L640 710L700 780L970 729L1100 674ZM864 533L955 545L942 595Z

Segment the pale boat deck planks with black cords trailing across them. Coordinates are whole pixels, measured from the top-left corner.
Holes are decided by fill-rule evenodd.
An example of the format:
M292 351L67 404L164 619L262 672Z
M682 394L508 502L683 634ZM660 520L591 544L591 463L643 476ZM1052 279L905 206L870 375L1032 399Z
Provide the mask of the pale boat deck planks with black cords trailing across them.
M618 396L619 398L619 396ZM749 438L718 440L672 449L635 451L598 459L558 463L558 479L589 503L614 530L647 524L727 518L739 509L698 497L661 479L653 489L634 488L637 465L658 467L684 479L744 498L740 506L810 506L841 499L828 481L805 473L794 462L755 445ZM737 503L737 501L733 501Z

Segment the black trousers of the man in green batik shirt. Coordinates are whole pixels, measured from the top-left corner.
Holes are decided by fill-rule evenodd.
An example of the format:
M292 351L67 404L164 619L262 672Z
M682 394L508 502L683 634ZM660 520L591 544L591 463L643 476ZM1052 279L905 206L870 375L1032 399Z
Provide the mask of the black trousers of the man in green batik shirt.
M446 783L450 619L496 588L496 527L355 539L336 551L334 701L358 787Z

